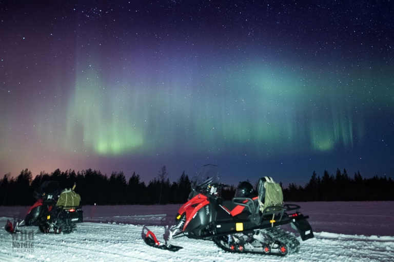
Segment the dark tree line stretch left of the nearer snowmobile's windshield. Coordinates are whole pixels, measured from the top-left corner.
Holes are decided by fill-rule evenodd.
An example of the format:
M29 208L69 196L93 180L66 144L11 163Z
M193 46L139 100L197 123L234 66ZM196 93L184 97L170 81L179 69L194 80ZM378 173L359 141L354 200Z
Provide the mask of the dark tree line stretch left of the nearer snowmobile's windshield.
M32 205L34 190L44 181L58 181L60 188L72 188L81 195L83 205L152 205L176 204L187 201L191 191L190 180L185 172L177 182L167 178L166 167L163 166L159 176L148 185L141 180L139 174L132 174L126 179L123 171L112 172L107 177L100 170L41 172L34 179L28 169L22 170L18 177L9 179L6 174L0 180L0 205Z

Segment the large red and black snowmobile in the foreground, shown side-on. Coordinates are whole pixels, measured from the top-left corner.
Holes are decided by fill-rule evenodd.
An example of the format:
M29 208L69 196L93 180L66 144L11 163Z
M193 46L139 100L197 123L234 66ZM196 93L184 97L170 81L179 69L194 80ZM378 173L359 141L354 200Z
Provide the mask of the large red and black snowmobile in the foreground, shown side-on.
M218 184L218 170L218 166L205 165L192 179L189 200L180 207L175 224L168 227L164 242L157 240L155 234L144 227L143 237L147 245L178 251L182 247L173 246L173 239L186 236L213 241L228 252L283 256L298 252L300 242L294 233L280 226L290 224L299 232L302 241L314 237L307 221L309 217L299 211L300 206L264 205L268 197L266 185L273 183L271 178L259 180L257 195L253 194L255 191L249 182L242 182L235 191L235 197L224 200L219 192L228 186Z

